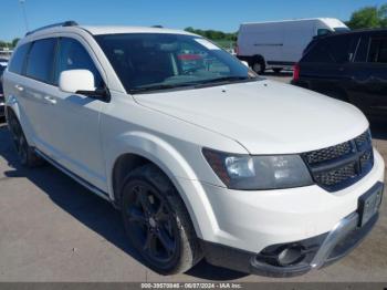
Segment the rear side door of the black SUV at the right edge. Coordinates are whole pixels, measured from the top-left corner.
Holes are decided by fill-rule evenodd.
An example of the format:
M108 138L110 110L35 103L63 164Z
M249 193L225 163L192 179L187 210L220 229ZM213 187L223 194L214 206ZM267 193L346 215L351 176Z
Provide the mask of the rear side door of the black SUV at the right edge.
M366 113L387 114L387 34L364 34L356 52L348 89Z

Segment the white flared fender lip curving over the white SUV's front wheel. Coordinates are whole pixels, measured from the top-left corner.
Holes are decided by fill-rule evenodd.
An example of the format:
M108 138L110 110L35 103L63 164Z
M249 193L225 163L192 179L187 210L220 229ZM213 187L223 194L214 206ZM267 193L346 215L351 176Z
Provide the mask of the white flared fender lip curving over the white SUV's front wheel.
M107 176L109 176L108 191L112 200L115 198L113 188L115 164L121 156L134 154L150 160L168 176L187 207L198 237L202 238L219 229L211 204L198 183L197 175L186 158L171 144L149 133L130 132L117 136L114 142L109 142L106 152L106 170ZM114 155L109 156L108 153L114 153ZM187 184L190 185L190 189L187 189ZM211 231L206 235L207 230L201 225L206 225L205 228L211 228Z

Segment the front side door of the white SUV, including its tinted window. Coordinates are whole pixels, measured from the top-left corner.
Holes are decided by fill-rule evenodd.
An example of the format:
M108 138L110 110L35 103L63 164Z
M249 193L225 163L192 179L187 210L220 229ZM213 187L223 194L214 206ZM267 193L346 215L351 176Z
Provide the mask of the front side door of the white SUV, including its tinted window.
M55 61L54 84L61 72L88 70L94 74L95 86L104 82L86 44L73 38L60 38ZM55 160L87 183L106 191L105 163L100 139L100 112L104 102L81 94L62 92L56 86L52 100L55 117L51 126L51 143Z

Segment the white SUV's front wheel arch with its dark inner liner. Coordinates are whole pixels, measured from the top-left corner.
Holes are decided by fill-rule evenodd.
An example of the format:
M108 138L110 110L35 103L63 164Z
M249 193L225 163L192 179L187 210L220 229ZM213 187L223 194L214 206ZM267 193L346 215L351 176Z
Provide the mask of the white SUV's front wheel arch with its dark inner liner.
M111 143L113 144L113 143ZM203 190L186 190L180 180L197 180L194 169L185 157L170 144L148 133L135 132L119 137L119 148L107 166L109 174L109 195L119 205L121 189L130 170L145 164L154 164L171 182L181 197L198 237L203 237L200 225L217 227L210 201ZM107 162L108 163L108 162ZM196 185L197 186L197 185ZM198 188L196 188L198 189ZM199 221L200 219L200 221Z

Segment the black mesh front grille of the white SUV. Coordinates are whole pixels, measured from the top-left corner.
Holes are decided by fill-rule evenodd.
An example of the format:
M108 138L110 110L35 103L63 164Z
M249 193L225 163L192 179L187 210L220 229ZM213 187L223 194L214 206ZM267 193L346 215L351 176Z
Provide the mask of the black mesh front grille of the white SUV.
M327 148L302 154L314 182L328 191L353 185L374 166L369 131Z

